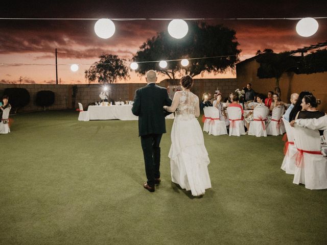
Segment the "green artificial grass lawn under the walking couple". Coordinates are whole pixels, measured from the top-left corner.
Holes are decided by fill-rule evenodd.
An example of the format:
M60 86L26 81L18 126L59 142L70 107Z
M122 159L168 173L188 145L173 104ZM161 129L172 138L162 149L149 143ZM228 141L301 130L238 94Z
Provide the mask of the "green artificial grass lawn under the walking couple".
M213 188L193 198L171 182L173 120L150 193L137 121L77 117L14 115L0 135L0 244L327 243L327 191L281 170L281 136L204 133Z

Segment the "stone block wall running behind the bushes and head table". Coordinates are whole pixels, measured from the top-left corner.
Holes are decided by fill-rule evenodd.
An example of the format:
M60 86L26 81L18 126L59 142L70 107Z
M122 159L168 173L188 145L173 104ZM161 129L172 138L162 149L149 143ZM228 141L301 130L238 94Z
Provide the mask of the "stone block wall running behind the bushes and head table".
M134 98L135 90L145 86L146 83L117 83L107 84L109 95L114 101L131 101ZM165 79L158 83L159 86L167 87L169 85L179 85L179 80ZM62 84L0 84L0 94L3 94L5 88L21 87L30 92L30 103L19 112L40 111L43 110L35 104L36 93L41 90L51 90L55 93L55 103L49 110L75 109L78 102L82 103L84 110L89 103L100 101L99 94L104 88L102 84L80 84L78 86L76 103L72 105L72 87L73 85ZM223 97L237 88L236 79L195 79L194 86L191 89L193 93L199 96L201 100L204 92L214 93L219 88ZM10 98L9 98L10 103Z

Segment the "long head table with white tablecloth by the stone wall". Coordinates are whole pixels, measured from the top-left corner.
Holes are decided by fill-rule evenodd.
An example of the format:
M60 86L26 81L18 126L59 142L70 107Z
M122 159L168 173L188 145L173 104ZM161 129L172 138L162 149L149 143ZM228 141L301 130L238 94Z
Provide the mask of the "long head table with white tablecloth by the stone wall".
M138 116L132 113L132 105L89 106L87 111L90 120L138 120ZM174 114L172 113L166 118L174 118Z

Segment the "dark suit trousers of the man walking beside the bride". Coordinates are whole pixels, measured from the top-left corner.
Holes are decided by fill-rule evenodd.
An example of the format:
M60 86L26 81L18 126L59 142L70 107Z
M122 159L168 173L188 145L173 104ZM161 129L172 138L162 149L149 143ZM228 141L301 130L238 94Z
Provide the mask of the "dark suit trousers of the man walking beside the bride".
M147 183L154 186L154 179L160 178L160 141L162 134L148 134L141 136L141 144L144 155L145 172Z

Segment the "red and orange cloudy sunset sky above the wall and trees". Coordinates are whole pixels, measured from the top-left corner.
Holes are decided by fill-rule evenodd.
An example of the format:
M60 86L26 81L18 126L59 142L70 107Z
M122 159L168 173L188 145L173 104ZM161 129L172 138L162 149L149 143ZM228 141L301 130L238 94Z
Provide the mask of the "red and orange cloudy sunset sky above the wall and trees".
M6 1L1 18L291 18L325 17L327 1ZM274 52L325 42L327 19L317 19L318 32L301 37L297 20L210 20L234 29L240 59L257 50ZM96 20L3 20L0 19L0 83L56 83L55 48L58 49L58 80L61 84L85 83L84 70L102 53L129 60L139 46L158 32L167 30L169 20L114 21L116 32L101 39L94 32ZM187 36L186 36L187 37ZM72 72L67 64L82 64ZM49 64L49 65L45 65ZM131 79L144 78L130 73ZM201 77L199 75L198 77ZM204 74L205 78L230 78L235 74ZM159 80L165 77L160 77Z

